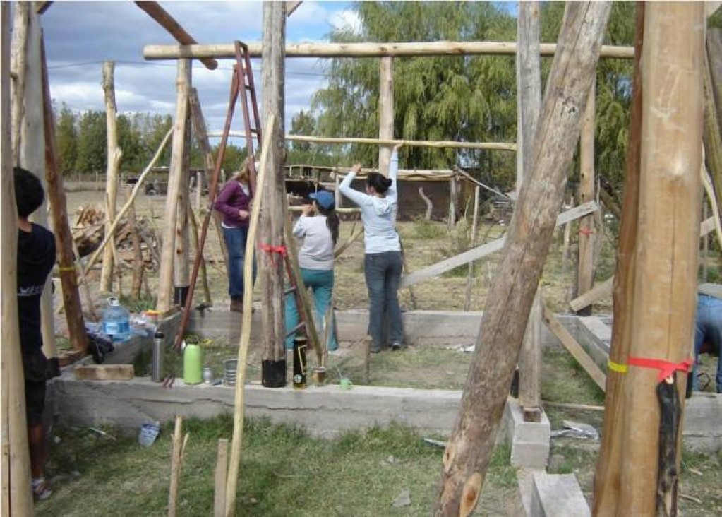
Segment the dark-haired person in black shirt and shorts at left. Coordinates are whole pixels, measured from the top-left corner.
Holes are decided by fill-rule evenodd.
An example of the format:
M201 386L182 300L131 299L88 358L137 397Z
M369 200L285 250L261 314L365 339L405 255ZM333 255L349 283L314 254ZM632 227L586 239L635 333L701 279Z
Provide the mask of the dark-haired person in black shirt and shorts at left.
M40 333L40 295L56 261L51 231L28 220L43 204L43 186L30 171L14 168L17 204L17 312L22 368L25 374L27 441L30 446L32 492L36 499L50 497L45 482L45 380L47 359Z

